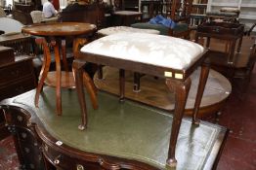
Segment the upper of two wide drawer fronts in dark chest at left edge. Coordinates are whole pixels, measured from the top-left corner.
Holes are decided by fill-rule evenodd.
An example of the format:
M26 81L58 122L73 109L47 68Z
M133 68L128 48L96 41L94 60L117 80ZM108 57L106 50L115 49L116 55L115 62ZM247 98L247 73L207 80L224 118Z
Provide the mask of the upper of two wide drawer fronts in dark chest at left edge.
M31 60L16 62L15 64L0 68L0 85L32 75L32 72Z

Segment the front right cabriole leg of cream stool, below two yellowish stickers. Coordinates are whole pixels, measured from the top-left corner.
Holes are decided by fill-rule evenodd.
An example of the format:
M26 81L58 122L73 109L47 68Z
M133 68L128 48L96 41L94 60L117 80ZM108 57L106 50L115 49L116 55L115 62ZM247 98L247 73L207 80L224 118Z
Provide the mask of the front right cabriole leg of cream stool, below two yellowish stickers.
M175 158L176 143L180 131L182 118L184 115L188 94L192 85L192 80L188 78L185 82L180 82L167 79L166 85L170 90L174 90L175 92L174 117L172 122L172 132L170 137L168 158L166 160L166 163L170 167L175 167L177 165L177 160Z

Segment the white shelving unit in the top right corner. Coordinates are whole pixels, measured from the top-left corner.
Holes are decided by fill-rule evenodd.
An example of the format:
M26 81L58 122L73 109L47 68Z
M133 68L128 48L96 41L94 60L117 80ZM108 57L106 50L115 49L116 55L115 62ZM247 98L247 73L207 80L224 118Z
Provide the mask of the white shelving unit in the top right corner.
M233 7L240 10L239 21L248 28L256 22L255 0L208 0L207 12L219 11L223 7ZM256 28L253 30L256 32Z

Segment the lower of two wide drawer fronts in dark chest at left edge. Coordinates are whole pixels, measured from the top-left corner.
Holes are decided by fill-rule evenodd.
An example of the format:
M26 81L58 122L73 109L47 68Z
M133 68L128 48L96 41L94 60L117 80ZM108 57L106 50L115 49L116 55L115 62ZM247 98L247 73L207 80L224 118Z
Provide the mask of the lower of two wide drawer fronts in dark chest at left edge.
M27 77L15 84L4 85L0 87L0 100L13 97L35 87L34 77Z

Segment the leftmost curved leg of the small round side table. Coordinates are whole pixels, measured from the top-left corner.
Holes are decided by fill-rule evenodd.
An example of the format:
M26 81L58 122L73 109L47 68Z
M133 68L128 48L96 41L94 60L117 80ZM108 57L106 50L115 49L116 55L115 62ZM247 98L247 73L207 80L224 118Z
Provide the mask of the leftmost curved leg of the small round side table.
M43 62L43 66L42 69L40 71L40 80L39 83L36 87L36 92L35 92L35 98L34 98L34 105L36 107L38 107L38 101L39 101L39 94L42 91L42 87L44 85L44 81L47 77L47 74L49 72L50 69L50 64L51 64L51 52L50 49L48 47L48 44L46 42L46 40L42 39L42 41L40 41L39 43L41 43L43 45L43 50L44 50L44 62Z

